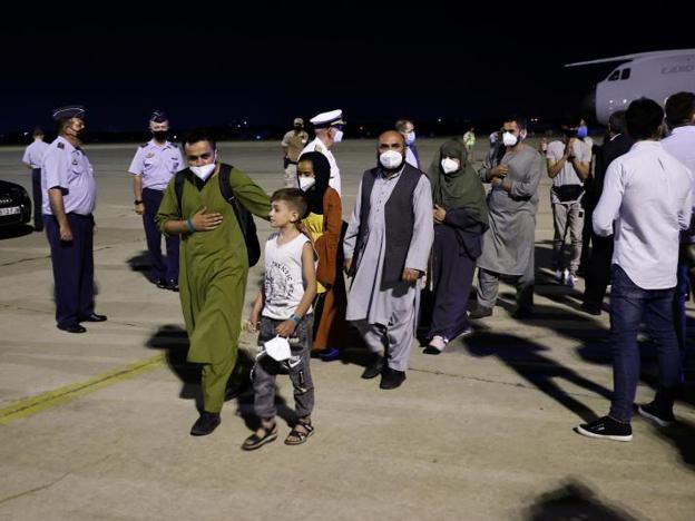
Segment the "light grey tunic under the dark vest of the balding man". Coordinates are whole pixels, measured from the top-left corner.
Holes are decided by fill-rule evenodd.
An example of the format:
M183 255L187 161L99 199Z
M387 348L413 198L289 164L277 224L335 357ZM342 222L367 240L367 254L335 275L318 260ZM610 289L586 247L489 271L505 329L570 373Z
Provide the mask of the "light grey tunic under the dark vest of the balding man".
M388 326L394 312L402 309L403 302L415 305L420 293L418 284L398 283L394 287L380 289L386 248L386 223L384 207L400 178L400 173L386 179L380 176L374 181L370 198L369 236L363 249L358 273L354 276L348 297L348 321L365 320L370 324ZM358 190L350 225L343 243L345 258L353 258L354 247L360 232L360 207L362 201L362 185ZM410 249L405 259L405 267L427 272L428 258L434 235L432 220L432 193L427 176L421 176L413 191L414 227L410 242ZM353 262L356 259L353 258ZM402 301L398 303L397 301ZM400 305L399 305L400 304Z

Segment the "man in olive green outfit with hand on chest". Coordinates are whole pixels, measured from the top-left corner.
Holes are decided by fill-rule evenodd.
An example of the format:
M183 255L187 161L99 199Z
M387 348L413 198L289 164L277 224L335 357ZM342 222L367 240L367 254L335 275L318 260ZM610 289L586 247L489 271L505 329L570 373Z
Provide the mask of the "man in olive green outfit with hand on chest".
M204 411L190 430L205 435L219 425L225 389L237 354L246 293L248 258L244 236L219 188L215 141L205 132L184 139L188 161L179 209L173 178L164 194L157 225L167 235L180 235L180 302L190 341L188 362L203 364ZM267 219L270 198L241 170L229 184L238 201Z

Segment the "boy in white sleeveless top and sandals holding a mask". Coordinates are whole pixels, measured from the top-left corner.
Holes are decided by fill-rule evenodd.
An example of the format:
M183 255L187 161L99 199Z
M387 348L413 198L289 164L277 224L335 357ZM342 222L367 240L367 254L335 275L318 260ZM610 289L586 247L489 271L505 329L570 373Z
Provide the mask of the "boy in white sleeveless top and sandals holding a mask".
M311 413L314 384L309 367L313 315L311 303L316 295L316 269L311 239L302 233L306 199L297 188L283 188L271 197L271 226L277 232L265 244L265 276L254 302L248 330L258 331L258 353L253 368L254 409L261 425L242 449L252 451L277 439L275 415L275 376L290 375L294 387L297 423L285 439L298 445L314 432ZM258 316L261 321L258 322ZM276 336L290 343L290 358L277 362L266 352L265 343Z

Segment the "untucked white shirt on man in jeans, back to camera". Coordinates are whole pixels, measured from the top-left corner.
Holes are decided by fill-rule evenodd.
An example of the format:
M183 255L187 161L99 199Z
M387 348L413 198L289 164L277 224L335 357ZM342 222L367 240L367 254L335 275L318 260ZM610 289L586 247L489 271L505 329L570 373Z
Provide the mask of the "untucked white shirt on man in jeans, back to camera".
M676 285L678 236L691 223L693 174L658 141L638 141L606 171L594 232L614 233L613 263L643 289Z

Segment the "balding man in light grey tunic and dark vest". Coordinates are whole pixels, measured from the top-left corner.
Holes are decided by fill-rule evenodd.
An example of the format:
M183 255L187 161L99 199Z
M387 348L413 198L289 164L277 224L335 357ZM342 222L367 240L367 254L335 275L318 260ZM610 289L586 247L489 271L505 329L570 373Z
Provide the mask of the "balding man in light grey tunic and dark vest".
M405 163L403 136L384 132L379 166L362 177L343 243L345 269L354 277L345 317L373 353L362 377L381 373L381 389L405 380L433 235L430 181Z

